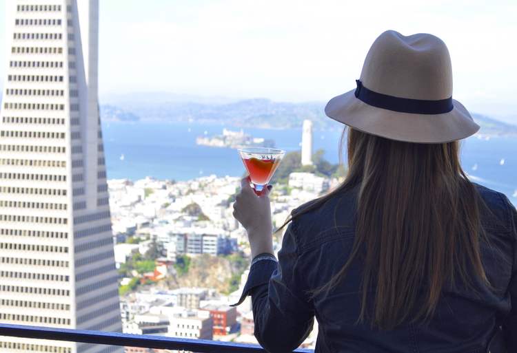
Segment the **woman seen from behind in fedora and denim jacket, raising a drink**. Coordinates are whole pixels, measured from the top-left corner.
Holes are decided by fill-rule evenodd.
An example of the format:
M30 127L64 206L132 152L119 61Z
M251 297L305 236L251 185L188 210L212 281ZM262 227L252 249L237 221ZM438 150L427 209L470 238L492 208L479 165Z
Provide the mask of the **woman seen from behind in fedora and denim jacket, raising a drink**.
M381 34L325 113L349 126L347 178L292 212L278 261L269 191L244 179L236 197L259 343L290 352L316 317L316 352L517 352L517 212L460 167L479 127L445 43Z

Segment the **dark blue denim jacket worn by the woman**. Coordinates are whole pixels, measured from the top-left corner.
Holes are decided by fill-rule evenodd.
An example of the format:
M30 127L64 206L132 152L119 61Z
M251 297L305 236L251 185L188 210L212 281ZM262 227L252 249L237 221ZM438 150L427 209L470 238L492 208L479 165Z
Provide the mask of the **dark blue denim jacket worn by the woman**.
M476 283L474 293L445 286L429 322L389 331L372 329L367 321L356 323L361 310L359 259L334 290L310 297L310 290L341 269L352 248L357 193L349 191L296 217L285 231L278 262L252 264L239 303L252 296L256 339L268 352L290 352L311 332L316 318L316 352L482 353L500 328L507 352L517 352L517 305L511 307L517 303L517 212L505 195L476 188L491 211L481 214L489 244L480 247L493 288Z

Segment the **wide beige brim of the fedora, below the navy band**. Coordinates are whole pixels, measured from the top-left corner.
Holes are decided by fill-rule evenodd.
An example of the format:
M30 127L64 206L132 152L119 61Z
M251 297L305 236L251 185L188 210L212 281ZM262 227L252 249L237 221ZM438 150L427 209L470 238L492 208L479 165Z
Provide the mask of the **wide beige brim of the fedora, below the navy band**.
M354 92L352 89L332 98L325 114L359 131L404 142L452 142L479 130L469 111L454 99L454 108L448 113L412 114L367 105Z

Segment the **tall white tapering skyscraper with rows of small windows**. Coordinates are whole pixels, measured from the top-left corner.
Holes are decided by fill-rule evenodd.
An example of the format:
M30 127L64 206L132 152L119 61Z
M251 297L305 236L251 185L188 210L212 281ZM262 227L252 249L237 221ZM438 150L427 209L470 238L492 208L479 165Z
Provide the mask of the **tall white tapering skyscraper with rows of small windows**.
M7 4L0 322L120 331L97 102L98 0ZM1 352L119 347L0 338Z

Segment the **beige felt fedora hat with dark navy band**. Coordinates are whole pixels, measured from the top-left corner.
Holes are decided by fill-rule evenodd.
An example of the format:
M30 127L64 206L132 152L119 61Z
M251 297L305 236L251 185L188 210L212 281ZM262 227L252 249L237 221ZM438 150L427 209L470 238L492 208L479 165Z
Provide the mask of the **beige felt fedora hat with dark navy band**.
M403 36L389 30L378 36L356 88L332 98L325 114L365 133L405 142L451 142L479 129L452 99L447 46L425 33Z

